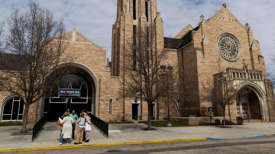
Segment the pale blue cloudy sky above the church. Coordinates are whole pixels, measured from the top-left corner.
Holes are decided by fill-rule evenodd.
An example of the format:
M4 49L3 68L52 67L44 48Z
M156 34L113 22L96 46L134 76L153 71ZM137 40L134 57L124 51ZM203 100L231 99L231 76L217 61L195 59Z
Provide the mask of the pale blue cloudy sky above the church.
M67 30L73 27L100 46L107 48L107 57L111 55L111 29L116 19L116 0L37 0L48 7L56 19L63 18ZM20 7L25 11L30 0L0 0L0 20L9 16L13 9ZM249 23L254 38L261 45L266 66L271 65L269 56L275 52L274 0L157 0L157 9L161 13L164 36L174 37L188 23L196 27L203 14L205 19L214 15L222 4L245 25Z

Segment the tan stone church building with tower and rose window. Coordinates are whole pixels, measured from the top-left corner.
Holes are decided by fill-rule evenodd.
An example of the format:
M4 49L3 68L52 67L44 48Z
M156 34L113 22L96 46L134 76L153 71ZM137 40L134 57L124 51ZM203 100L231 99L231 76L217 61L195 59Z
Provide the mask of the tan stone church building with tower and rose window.
M147 120L147 102L121 99L118 92L124 76L125 42L132 39L136 29L150 23L154 23L156 28L156 50L168 50L168 59L163 65L177 65L184 85L192 87L186 92L192 94L192 104L188 106L190 111L199 110L202 106L213 107L214 117L223 116L220 106L200 98L202 84L209 79L214 80L217 75L217 59L220 58L227 80L233 80L238 89L251 89L247 97L236 98L235 104L227 107L226 118L235 120L244 113L251 119L260 115L264 121L275 121L274 91L266 78L260 44L254 39L249 24L243 26L225 4L209 19L201 15L197 27L187 25L175 37L166 38L156 0L117 0L117 18L110 34L111 62L108 58L106 61L106 48L97 45L96 40L93 42L76 28L68 31L66 40L69 45L65 52L74 54L75 61L70 65L79 69L78 73L65 76L66 83L58 87L81 89L81 96L41 98L31 105L28 122L36 122L45 114L48 114L48 120L56 121L68 108L76 110L76 113L86 109L105 121L131 121L134 117ZM80 86L74 84L76 80L82 82ZM151 107L154 119L167 118L166 100L159 99ZM23 108L22 98L0 92L0 121L21 120ZM173 116L186 116L177 115L173 105L171 108Z

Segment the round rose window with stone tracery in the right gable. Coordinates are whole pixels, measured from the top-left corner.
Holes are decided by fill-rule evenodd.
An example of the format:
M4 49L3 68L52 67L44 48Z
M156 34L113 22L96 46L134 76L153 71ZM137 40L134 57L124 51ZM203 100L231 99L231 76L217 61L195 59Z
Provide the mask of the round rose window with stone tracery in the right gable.
M221 56L228 61L236 61L239 58L240 44L232 35L222 35L218 41L218 49Z

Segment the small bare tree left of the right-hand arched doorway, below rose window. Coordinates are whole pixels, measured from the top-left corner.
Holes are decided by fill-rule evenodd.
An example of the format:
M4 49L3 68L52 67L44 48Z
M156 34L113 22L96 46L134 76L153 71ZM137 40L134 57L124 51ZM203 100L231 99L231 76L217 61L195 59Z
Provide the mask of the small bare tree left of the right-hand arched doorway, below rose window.
M217 59L218 73L214 76L214 80L210 79L206 83L202 83L202 101L214 102L223 108L223 127L225 127L225 109L235 103L236 98L245 96L250 91L248 88L237 89L238 85L227 78L227 73L221 66L221 59Z

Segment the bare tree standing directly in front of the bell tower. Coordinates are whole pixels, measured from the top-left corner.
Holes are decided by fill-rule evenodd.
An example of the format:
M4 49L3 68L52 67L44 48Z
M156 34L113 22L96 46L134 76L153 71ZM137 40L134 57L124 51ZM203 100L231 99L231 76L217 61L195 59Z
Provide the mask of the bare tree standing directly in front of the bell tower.
M151 129L151 104L166 91L166 76L161 75L160 64L167 58L166 49L158 49L154 24L139 27L125 44L125 55L119 92L121 98L148 103L148 130Z

